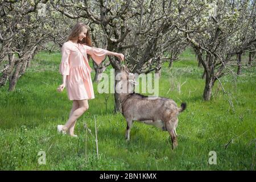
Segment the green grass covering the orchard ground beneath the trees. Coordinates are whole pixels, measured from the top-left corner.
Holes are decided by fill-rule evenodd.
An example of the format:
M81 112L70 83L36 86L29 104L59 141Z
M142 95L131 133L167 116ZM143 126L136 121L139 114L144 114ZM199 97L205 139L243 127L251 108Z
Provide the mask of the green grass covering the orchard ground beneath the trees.
M8 85L0 89L1 170L255 170L255 67L243 68L238 78L221 78L232 108L218 82L212 100L202 100L203 68L197 67L190 49L171 69L164 65L159 95L178 105L187 102L179 115L179 146L171 150L168 133L138 122L126 142L126 122L122 114L113 113L113 94L98 94L97 84L96 98L77 122L79 137L57 134L56 126L67 121L72 107L66 90L56 92L60 58L60 53L40 52L14 92L7 92ZM84 129L85 123L93 136ZM38 163L39 151L46 152L45 165ZM208 163L210 151L216 151L216 165Z

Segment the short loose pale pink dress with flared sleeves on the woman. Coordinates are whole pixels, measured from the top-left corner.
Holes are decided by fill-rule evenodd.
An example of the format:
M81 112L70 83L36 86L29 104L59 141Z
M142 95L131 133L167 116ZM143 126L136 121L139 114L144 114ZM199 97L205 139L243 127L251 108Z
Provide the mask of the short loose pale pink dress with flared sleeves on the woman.
M89 100L94 98L92 78L87 54L100 64L106 57L105 49L65 42L61 47L60 74L67 75L66 89L69 100Z

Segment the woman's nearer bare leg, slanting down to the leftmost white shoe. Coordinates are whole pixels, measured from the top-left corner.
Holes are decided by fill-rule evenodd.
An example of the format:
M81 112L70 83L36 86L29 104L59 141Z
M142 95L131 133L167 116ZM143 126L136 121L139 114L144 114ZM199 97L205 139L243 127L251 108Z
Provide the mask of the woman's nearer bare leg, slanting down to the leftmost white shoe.
M73 122L75 122L76 119L78 119L82 114L84 114L84 112L89 108L88 100L81 100L78 102L79 102L79 108L73 111L73 113L71 114L71 117L69 117L67 123L64 126L65 131L67 131L71 127Z

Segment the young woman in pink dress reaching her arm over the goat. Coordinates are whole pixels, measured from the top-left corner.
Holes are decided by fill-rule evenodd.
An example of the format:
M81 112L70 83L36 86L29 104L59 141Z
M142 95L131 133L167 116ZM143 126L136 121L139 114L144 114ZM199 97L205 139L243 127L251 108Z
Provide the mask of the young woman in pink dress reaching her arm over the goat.
M117 56L121 61L125 59L122 53L92 47L89 28L84 23L77 23L72 28L68 41L61 47L59 71L63 75L63 84L57 88L57 91L62 92L66 87L73 106L67 123L57 126L59 132L77 137L74 134L76 120L88 110L88 100L94 98L89 58L92 57L97 64L100 64L106 55Z

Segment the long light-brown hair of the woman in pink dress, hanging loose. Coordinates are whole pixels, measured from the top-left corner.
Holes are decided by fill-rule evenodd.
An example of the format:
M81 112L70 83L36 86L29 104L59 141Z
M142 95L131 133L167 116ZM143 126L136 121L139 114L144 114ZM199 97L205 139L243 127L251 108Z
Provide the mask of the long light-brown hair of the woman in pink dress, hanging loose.
M82 32L82 28L86 28L86 38L82 39L81 41L78 39L79 34ZM77 40L78 39L78 40ZM88 26L86 26L84 23L76 23L75 26L72 28L71 33L68 36L68 40L77 40L77 43L79 44L85 44L86 46L92 47L92 39L90 38L90 30ZM90 60L90 55L87 55L88 61Z

